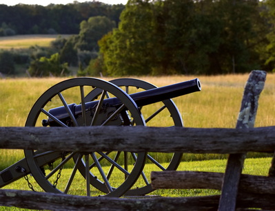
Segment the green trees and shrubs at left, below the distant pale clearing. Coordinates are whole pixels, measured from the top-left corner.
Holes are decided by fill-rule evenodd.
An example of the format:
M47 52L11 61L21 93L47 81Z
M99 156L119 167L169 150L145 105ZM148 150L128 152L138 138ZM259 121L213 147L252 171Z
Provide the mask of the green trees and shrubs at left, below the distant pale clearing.
M34 45L28 49L0 50L0 72L8 75L65 76L70 69L81 70L98 57L97 41L112 31L116 23L106 16L92 16L81 21L79 34L58 36L49 47Z

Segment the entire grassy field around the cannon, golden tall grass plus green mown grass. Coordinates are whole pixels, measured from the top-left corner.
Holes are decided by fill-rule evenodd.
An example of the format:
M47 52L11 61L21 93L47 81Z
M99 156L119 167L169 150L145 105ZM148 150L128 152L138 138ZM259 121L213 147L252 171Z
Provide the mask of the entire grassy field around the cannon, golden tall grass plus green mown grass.
M182 115L185 126L198 128L234 128L243 96L243 88L248 74L227 76L160 76L139 77L159 87L198 77L201 80L202 91L174 99ZM137 77L133 77L137 78ZM111 80L112 78L103 78ZM65 78L6 78L0 80L0 126L24 126L26 118L34 102L52 85ZM274 126L275 74L267 74L265 89L259 99L259 107L255 126ZM165 117L159 120L159 125L165 126ZM226 156L226 155L225 155ZM256 157L258 155L251 155ZM262 155L261 155L262 156ZM10 166L23 157L19 150L0 149L0 170ZM226 160L221 155L185 155L179 170L202 170L223 172ZM204 161L196 161L203 160ZM196 162L194 162L194 160ZM189 162L186 162L189 161ZM193 161L193 162L191 162ZM267 175L270 157L249 158L245 161L244 173L252 175ZM64 173L70 168L64 169ZM33 180L33 178L31 177ZM20 179L5 188L26 189L26 181ZM35 187L39 190L39 187ZM194 195L212 195L216 190L156 190L152 194L172 197ZM4 209L4 208L3 208ZM3 210L0 208L0 210Z

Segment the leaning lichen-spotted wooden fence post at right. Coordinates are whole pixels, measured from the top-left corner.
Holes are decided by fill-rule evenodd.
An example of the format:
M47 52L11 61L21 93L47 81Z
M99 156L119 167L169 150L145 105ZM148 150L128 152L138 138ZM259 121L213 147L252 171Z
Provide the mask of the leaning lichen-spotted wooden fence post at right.
M258 98L265 85L265 78L265 71L252 71L249 75L243 93L243 100L241 102L240 113L238 114L236 129L248 129L254 127L258 109ZM244 161L245 153L230 154L228 157L218 210L235 210L238 183L241 177Z

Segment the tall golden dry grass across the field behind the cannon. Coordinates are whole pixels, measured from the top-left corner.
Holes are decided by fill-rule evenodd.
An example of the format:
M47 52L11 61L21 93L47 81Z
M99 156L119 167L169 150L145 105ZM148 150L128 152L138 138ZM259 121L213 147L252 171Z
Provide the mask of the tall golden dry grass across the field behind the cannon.
M243 88L249 74L225 76L143 76L159 87L184 80L199 78L202 91L174 99L182 115L184 125L197 128L234 128L243 96ZM113 78L103 78L111 80ZM275 117L275 74L267 74L265 89L259 99L255 126L273 126ZM24 126L34 102L52 85L65 78L6 78L0 80L0 126ZM165 126L165 115L159 116L159 124ZM207 159L208 155L190 155L185 159ZM193 156L193 157L192 157ZM23 157L22 151L0 149L0 170ZM215 155L220 158L220 155ZM3 166L4 165L4 166Z

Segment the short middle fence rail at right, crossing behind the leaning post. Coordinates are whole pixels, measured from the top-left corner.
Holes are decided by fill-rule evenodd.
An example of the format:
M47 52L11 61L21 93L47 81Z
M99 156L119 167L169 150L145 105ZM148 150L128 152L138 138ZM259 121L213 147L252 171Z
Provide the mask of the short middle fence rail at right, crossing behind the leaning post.
M223 173L197 171L152 171L151 184L154 189L206 188L221 190ZM275 194L275 177L241 175L240 192Z

